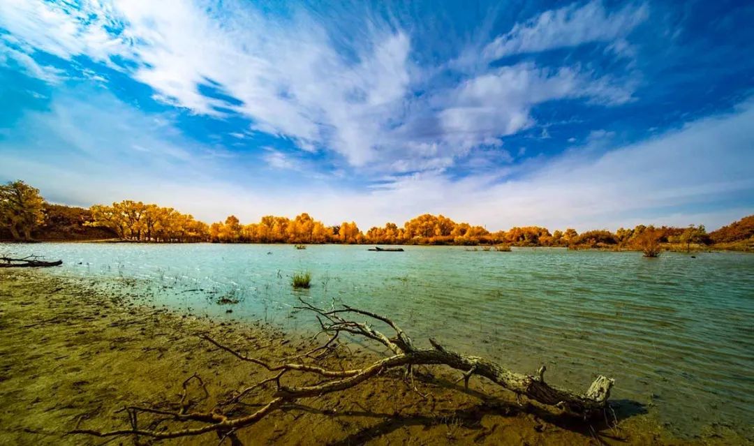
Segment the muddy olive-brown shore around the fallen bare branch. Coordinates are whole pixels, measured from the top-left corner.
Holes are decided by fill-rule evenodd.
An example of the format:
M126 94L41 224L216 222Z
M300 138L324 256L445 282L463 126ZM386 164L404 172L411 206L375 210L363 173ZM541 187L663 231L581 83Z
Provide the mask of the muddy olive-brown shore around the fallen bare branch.
M207 383L210 397L201 400L199 389L192 387L194 410L208 410L232 390L271 376L212 347L198 338L199 333L271 361L311 347L308 340L261 323L213 321L146 305L129 292L127 281L112 292L95 291L87 284L90 280L51 276L44 270L0 271L0 444L103 444L108 440L66 432L78 421L86 429L126 428L120 411L125 405L175 408L182 382L195 373ZM340 368L375 357L354 345L339 351L341 357L324 364ZM509 393L477 377L464 392L463 383L454 383L457 374L442 368L422 368L417 383L421 396L395 373L274 412L236 432L237 444L744 442L730 432L671 438L651 416L637 415L643 408L631 405L618 408L617 424L578 423L541 408L532 414ZM286 382L311 382L302 379L290 377ZM255 407L237 411L248 414ZM214 433L160 441L218 442ZM108 444L137 443L119 437ZM231 444L231 438L222 444Z

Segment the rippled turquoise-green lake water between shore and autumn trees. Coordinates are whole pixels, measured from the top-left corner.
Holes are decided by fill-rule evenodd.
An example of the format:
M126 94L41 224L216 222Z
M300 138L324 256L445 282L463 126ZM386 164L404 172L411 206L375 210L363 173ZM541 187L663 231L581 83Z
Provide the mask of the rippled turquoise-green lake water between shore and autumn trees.
M553 383L586 389L595 374L614 377L613 399L645 405L678 432L722 424L752 435L754 255L405 249L45 243L0 253L60 258L48 271L135 278L156 304L297 331L317 327L293 310L299 297L334 298L391 315L418 343L431 335L521 372L544 362ZM294 291L290 276L304 270L312 287Z

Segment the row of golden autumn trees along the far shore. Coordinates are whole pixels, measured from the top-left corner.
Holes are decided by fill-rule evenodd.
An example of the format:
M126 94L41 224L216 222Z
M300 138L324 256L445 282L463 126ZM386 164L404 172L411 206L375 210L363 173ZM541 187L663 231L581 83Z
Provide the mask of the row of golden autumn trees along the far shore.
M155 243L482 244L608 249L645 249L651 243L672 243L690 249L692 245L754 240L754 215L709 234L703 225L687 228L638 225L615 232L595 230L581 234L573 228L550 232L539 226L491 232L483 226L431 214L418 215L402 226L386 223L366 232L354 221L327 226L308 213L293 219L266 215L259 222L245 225L230 215L225 221L207 225L176 209L141 201L123 200L90 209L52 205L44 201L38 189L20 180L0 185L0 225L14 240L32 240L32 234L41 230L44 234L57 234L45 237L55 240L77 238L77 234L81 238L102 238L109 234L121 240Z

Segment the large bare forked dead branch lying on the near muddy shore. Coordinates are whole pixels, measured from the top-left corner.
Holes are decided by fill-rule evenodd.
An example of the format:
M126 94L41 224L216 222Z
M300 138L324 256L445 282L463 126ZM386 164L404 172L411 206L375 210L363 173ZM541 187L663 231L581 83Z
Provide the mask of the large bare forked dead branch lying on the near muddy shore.
M430 339L431 348L418 348L415 347L411 338L409 338L403 329L385 316L345 305L339 308L333 306L331 309L325 310L306 303L302 298L299 298L299 300L302 301L303 307L297 308L311 310L316 313L321 325L320 334L329 334L329 340L307 353L296 356L296 359L299 359L298 362L283 364L266 362L253 356L244 355L238 350L219 343L206 334L201 334L200 337L204 341L213 344L221 350L225 350L241 359L241 361L252 362L268 371L274 372L274 375L265 380L260 380L245 389L240 389L234 394L232 399L219 403L210 411L191 412L188 410L188 405L185 404L186 386L190 380L196 379L204 387L204 382L201 381L201 378L194 375L183 383L183 396L179 405L181 409L178 411L164 411L158 408L131 406L126 408L130 422L130 427L126 429L103 432L93 429L79 429L79 426L76 426L76 429L70 433L95 435L97 437L144 435L158 439L201 435L207 432L216 432L218 435L227 436L232 435L238 429L253 425L277 409L288 408L294 410L295 406L293 403L299 399L318 397L326 393L349 389L392 368L405 368L405 376L412 378L414 367L417 365L445 365L461 371L461 377L458 381L464 380L466 388L468 388L470 377L474 375L484 377L504 389L515 393L516 399L526 397L542 405L550 406L561 414L584 419L599 414L606 408L610 389L614 383L614 380L610 378L599 376L585 393L575 393L546 383L544 380L544 365L535 374L517 374L488 359L478 356L468 356L449 350L434 339ZM382 322L393 333L391 336L388 336L382 333L382 331L373 328L369 322L356 322L354 318L366 318L371 322ZM317 365L317 356L314 353L332 349L341 334L351 334L375 341L378 344L382 344L389 353L383 359L351 370L336 370ZM314 362L305 362L304 359L313 359ZM290 373L308 374L312 377L318 377L320 380L317 384L313 385L287 386L283 382L283 377L285 374ZM206 393L206 388L204 390ZM244 400L251 399L252 397L255 398L250 403L259 407L259 409L250 414L231 415L231 413L234 413L232 411L234 405L241 402L249 403L249 401ZM145 413L164 417L164 420L185 423L185 427L174 430L155 430L139 427L137 422L139 420L138 414Z

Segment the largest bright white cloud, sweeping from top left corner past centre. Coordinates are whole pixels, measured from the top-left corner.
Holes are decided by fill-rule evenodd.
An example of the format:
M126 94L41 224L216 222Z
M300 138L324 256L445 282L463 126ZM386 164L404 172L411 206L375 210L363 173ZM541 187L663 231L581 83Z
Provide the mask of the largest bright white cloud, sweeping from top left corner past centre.
M632 23L626 17L638 20L643 11L602 14L601 8L592 3L553 12L550 21L514 27L509 40L535 47L531 42L544 26L537 23L568 31L593 17L600 17L600 26L617 21L626 29ZM533 124L530 108L547 100L615 105L631 99L630 84L578 67L530 64L486 69L437 91L422 84L434 68L412 63L406 31L359 20L366 22L354 25L359 32L333 31L303 10L270 17L247 3L204 0L85 0L80 8L13 0L0 12L0 26L23 41L27 56L35 50L68 60L84 54L116 68L113 58L130 61L124 70L152 87L155 99L201 115L237 111L253 119L253 130L290 138L305 151L335 151L351 166L374 172L450 166L475 146L499 145L500 136ZM344 35L334 38L333 32ZM428 93L416 97L422 88Z

